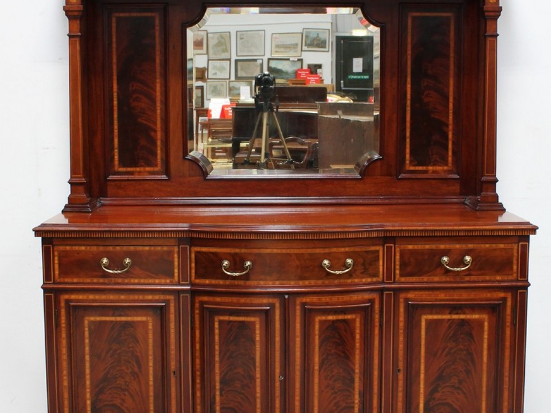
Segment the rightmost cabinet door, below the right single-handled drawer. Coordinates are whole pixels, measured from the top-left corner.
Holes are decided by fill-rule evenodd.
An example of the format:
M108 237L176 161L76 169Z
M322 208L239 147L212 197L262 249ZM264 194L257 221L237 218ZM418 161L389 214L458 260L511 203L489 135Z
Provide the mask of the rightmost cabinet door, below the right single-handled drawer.
M512 293L398 297L395 412L512 411Z

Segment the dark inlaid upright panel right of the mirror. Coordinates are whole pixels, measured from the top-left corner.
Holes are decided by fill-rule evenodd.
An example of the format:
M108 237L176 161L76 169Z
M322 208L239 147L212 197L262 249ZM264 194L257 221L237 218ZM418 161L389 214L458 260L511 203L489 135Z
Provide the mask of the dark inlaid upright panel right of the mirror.
M405 8L402 48L406 78L402 172L457 176L459 127L459 12Z

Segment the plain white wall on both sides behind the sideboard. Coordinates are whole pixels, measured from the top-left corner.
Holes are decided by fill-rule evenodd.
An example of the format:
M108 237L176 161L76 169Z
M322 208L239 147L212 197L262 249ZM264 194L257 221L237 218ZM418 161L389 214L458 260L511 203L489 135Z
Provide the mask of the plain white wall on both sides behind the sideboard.
M532 237L526 413L548 413L551 356L551 54L544 0L503 0L498 186ZM67 21L63 0L0 13L0 412L45 408L40 243L32 227L67 200ZM493 413L493 412L492 412Z

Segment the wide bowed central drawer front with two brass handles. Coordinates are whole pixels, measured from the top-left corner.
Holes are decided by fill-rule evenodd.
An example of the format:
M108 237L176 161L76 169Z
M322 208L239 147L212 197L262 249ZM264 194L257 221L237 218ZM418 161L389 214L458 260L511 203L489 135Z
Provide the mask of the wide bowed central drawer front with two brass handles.
M346 260L353 264L347 266ZM327 268L322 266L329 260ZM225 271L222 262L227 261ZM245 262L251 262L247 271ZM308 285L379 282L382 247L346 248L191 248L195 284ZM346 271L348 270L348 271Z

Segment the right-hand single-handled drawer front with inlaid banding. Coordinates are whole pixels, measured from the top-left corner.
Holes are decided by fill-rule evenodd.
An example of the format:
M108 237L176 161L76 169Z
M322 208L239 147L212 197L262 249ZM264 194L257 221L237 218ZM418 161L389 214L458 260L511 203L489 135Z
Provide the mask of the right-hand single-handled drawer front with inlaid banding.
M448 257L444 263L443 257ZM515 280L518 260L518 244L399 245L396 246L396 280Z

